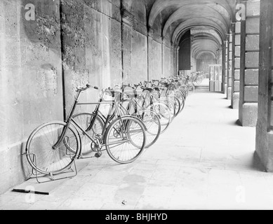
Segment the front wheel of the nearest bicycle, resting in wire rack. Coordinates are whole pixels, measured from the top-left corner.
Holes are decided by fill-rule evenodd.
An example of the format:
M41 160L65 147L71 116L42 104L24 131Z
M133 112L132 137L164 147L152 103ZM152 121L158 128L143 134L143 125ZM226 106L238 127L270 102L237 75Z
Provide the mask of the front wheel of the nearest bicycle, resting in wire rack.
M37 172L60 174L72 166L79 148L76 129L57 121L37 127L27 140L25 152L29 165Z

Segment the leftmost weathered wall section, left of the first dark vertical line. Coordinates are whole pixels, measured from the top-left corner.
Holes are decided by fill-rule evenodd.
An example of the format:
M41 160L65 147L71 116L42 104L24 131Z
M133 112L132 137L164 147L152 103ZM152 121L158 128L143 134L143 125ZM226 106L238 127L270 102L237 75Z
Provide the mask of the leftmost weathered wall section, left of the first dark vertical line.
M36 8L29 18L27 3ZM25 139L62 119L59 1L0 1L0 193L23 181Z

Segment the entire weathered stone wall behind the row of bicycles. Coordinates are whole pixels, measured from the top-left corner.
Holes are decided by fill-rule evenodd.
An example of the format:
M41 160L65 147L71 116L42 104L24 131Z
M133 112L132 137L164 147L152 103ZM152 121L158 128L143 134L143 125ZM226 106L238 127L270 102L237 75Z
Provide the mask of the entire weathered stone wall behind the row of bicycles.
M159 27L148 35L142 0L0 1L0 193L25 180L27 137L42 123L63 120L76 86L171 75L171 43ZM97 90L81 98L94 100Z

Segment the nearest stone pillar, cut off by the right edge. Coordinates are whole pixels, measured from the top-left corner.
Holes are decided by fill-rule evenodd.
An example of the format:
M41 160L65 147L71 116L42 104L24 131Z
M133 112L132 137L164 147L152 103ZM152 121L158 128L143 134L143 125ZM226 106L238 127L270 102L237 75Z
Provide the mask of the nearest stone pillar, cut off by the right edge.
M256 153L267 172L273 172L272 11L272 0L260 1L260 62Z

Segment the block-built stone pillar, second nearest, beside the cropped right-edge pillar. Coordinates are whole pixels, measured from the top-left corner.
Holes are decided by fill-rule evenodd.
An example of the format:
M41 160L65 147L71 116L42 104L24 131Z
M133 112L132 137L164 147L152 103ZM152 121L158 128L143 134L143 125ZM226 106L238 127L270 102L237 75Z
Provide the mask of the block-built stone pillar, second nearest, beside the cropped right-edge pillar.
M241 21L239 120L247 127L257 124L259 34L260 0L246 1L246 20Z

